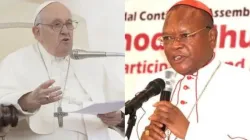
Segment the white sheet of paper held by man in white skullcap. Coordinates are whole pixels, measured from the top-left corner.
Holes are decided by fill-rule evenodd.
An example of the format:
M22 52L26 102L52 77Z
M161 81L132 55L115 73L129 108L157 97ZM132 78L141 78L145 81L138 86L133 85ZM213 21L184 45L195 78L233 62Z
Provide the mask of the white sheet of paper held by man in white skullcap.
M106 102L106 103L93 103L90 105L85 106L80 110L76 110L69 113L80 113L80 114L105 114L113 111L118 111L122 107L124 107L124 101L113 101L113 102Z

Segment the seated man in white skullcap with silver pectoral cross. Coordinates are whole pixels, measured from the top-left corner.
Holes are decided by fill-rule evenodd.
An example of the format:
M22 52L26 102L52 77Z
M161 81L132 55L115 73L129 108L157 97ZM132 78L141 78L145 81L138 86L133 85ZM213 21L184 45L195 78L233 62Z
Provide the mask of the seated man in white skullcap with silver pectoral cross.
M77 22L65 5L49 1L35 14L37 44L9 54L0 66L0 102L20 112L8 140L110 140L123 131L123 113L64 113L92 102L124 99L124 84L97 59L71 60ZM63 119L58 119L58 111Z

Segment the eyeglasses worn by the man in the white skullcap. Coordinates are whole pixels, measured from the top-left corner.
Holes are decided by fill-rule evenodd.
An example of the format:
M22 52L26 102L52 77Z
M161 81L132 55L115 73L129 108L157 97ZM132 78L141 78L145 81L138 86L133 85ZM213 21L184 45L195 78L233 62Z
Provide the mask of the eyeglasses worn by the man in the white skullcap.
M78 22L77 21L70 21L70 22L66 22L66 23L62 23L62 22L57 22L54 24L43 24L43 23L38 23L38 25L47 25L50 26L54 31L58 32L61 31L63 26L66 25L68 30L74 30L77 27Z

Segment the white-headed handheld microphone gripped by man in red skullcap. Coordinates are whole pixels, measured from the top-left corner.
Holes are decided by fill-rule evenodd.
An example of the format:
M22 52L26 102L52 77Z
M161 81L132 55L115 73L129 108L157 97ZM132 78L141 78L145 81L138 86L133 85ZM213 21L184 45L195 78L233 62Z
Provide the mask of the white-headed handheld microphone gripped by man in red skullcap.
M160 101L170 101L171 92L173 90L173 87L172 87L173 76L174 76L174 72L172 72L172 71L165 72L165 78L167 79L167 81L166 81L166 86L165 86L164 90L161 92ZM163 132L165 132L165 130L166 130L165 124L163 124L163 127L161 128L161 130Z

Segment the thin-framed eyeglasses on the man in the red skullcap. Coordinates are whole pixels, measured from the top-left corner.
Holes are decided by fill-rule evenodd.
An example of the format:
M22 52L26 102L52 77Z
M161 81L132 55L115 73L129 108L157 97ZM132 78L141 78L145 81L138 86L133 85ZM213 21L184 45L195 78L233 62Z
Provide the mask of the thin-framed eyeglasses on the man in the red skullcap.
M159 37L157 40L160 41L160 43L164 46L171 45L175 40L178 40L179 42L186 42L188 40L188 38L193 37L194 35L196 35L197 33L199 33L200 31L202 31L204 29L212 29L212 27L206 26L206 27L201 28L199 30L196 30L192 33L180 34L178 37L174 37L171 35L163 35L163 36Z

